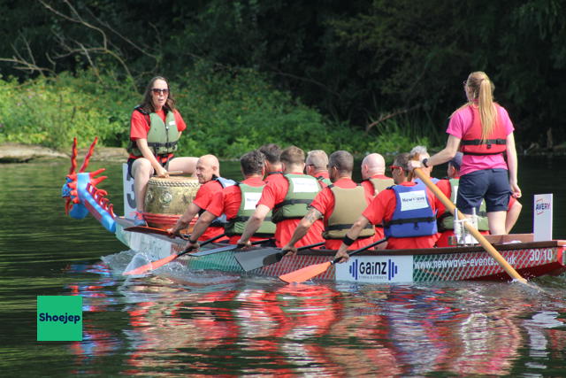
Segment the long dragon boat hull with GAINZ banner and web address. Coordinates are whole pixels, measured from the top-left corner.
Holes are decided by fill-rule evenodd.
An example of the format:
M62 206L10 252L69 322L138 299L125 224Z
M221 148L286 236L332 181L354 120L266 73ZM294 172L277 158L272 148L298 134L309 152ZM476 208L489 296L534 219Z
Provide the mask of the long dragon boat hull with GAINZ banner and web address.
M163 235L125 231L127 220L119 220L116 235L137 252L164 258L182 251L186 242ZM494 247L524 278L562 274L566 271L563 241L495 243ZM218 245L217 245L218 246ZM212 246L211 248L214 248ZM278 263L246 273L234 257L245 251L224 251L203 257L188 255L177 261L190 270L216 270L238 274L278 277L305 266L325 263L334 251L302 251ZM314 280L369 283L510 281L509 275L481 247L432 248L424 250L363 251L347 263L330 266Z

